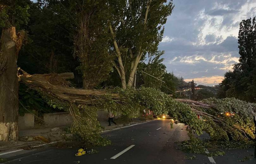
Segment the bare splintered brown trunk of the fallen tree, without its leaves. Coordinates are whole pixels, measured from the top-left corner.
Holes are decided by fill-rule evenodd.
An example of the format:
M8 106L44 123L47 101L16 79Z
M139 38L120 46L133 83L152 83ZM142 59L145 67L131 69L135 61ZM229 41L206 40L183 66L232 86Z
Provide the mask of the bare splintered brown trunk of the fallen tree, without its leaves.
M65 79L74 78L73 73L30 75L20 69L18 78L19 81L22 81L33 89L41 90L60 99L74 103L97 104L98 99L96 97L109 93L106 89L93 90L68 87L68 85L66 85L68 83ZM118 95L112 94L112 96L117 97Z

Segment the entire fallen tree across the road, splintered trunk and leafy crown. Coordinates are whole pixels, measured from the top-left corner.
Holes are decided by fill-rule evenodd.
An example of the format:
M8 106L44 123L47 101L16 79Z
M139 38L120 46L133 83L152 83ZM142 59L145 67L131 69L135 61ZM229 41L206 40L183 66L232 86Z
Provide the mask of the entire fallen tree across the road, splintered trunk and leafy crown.
M72 74L65 74L65 79ZM93 145L106 141L100 137L96 111L100 108L136 115L149 109L157 115L169 114L187 125L187 130L198 135L207 132L212 140L248 142L255 138L253 116L256 104L235 98L210 98L202 102L173 99L153 88L85 90L68 87L63 75L29 75L19 71L19 80L37 90L47 103L71 112L72 132ZM83 116L81 115L83 111ZM198 115L203 119L198 119Z

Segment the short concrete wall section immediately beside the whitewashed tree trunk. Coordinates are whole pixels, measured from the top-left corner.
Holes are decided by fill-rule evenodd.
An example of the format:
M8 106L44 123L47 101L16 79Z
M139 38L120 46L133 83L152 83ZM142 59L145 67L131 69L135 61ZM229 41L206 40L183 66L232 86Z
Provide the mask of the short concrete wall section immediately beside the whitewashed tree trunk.
M31 129L34 128L35 116L31 113L25 113L24 116L19 115L18 127L19 129Z

